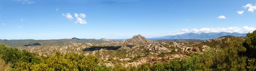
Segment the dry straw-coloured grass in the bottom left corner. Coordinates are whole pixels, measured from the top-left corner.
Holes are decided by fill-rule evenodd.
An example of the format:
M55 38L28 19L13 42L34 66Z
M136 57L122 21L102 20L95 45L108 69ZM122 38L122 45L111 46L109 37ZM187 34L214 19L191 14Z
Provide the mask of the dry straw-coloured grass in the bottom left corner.
M6 64L3 59L0 58L0 71L11 71L12 64Z

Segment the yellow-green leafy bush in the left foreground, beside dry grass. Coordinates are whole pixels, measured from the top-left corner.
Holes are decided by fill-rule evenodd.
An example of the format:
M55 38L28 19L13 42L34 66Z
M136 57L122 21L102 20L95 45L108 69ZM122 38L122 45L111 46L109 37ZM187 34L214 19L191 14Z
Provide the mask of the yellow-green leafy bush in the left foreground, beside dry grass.
M44 57L39 64L18 63L15 71L95 71L98 58L92 55L84 56L77 53L61 54Z

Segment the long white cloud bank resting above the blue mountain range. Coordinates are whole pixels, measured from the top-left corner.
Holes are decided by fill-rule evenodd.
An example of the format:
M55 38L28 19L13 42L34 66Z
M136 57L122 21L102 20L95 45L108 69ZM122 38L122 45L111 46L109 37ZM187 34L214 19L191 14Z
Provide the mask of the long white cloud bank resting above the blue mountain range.
M227 33L233 33L233 32L238 32L238 33L248 33L248 32L253 32L253 30L256 30L254 27L228 27L228 28L201 28L201 29L182 29L182 30L177 30L169 35L178 35L178 34L184 34L184 33L218 33L218 32L227 32Z

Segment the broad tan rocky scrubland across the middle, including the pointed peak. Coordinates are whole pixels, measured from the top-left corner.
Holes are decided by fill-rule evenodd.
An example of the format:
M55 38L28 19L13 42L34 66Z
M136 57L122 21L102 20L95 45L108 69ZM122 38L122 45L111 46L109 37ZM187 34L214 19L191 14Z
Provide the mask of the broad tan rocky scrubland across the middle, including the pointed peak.
M121 63L122 66L128 67L139 66L143 63L169 62L174 58L183 59L190 57L191 54L204 52L211 48L226 47L227 42L231 39L244 40L242 37L221 37L207 41L159 42L149 41L142 35L135 35L124 42L72 43L65 46L23 46L19 49L25 49L42 56L54 55L56 51L60 51L62 54L75 52L83 55L95 55L99 57L99 65L114 66ZM101 40L108 41L106 39Z

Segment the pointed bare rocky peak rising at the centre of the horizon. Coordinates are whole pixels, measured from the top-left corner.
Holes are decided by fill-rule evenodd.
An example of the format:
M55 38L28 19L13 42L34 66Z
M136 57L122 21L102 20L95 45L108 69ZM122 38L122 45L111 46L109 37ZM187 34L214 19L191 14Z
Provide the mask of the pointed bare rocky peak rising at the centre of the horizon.
M148 44L151 43L150 40L148 40L147 38L143 37L142 35L134 35L134 37L128 39L128 40L124 40L122 41L123 43L132 43L132 44Z

